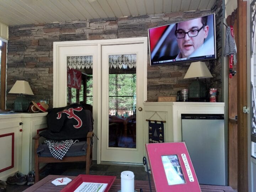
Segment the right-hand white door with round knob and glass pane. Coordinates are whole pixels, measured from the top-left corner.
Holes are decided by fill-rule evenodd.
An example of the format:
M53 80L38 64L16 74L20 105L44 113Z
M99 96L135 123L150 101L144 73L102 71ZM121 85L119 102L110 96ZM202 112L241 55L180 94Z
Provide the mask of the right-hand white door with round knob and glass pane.
M102 46L101 161L142 163L144 45Z

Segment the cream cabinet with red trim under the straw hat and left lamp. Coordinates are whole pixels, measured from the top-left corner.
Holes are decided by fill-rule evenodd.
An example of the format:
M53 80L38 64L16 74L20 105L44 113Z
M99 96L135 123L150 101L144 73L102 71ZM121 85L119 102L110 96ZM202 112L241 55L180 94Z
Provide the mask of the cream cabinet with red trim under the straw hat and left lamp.
M47 127L47 113L0 114L0 180L16 171L28 174L34 167L32 137Z

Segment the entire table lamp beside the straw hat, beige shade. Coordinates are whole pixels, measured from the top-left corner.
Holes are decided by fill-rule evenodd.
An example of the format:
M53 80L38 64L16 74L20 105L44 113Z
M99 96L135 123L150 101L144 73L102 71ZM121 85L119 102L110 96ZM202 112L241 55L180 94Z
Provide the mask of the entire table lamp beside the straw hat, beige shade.
M27 81L16 81L14 86L12 86L11 90L9 91L11 94L21 94L21 96L17 96L14 101L14 111L24 112L28 107L28 101L26 97L23 95L34 95L30 85Z

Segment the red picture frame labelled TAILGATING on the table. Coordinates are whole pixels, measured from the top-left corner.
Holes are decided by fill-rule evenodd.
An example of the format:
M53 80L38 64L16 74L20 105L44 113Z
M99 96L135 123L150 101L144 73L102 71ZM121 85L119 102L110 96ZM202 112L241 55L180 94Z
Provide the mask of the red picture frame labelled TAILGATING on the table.
M186 144L146 144L155 189L158 192L201 192Z

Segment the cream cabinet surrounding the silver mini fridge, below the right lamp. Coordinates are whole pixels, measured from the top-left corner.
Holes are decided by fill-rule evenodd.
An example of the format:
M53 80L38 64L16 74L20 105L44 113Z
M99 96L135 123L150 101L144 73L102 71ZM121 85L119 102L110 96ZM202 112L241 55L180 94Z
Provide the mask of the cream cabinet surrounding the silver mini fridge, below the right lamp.
M224 114L222 102L144 102L144 142L148 143L146 119L166 121L164 142L181 142L181 114Z

